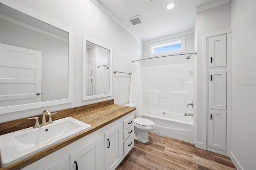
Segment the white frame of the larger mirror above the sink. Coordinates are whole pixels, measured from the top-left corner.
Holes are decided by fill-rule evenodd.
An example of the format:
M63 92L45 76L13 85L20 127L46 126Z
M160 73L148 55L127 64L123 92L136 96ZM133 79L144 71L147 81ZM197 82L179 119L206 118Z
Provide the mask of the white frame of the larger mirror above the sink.
M31 11L27 8L24 8L23 6L20 6L19 4L16 4L12 1L4 1L1 2L1 4L8 6L18 12L21 12L23 14L26 14L32 18L35 18L36 20L40 20L42 22L45 22L46 24L49 24L51 26L54 26L56 28L59 28L63 31L68 32L68 99L60 99L55 101L45 101L45 102L39 102L39 103L29 103L24 105L14 105L14 106L7 106L7 107L0 107L0 114L5 113L12 113L17 111L25 111L29 109L36 109L41 107L48 107L53 105L61 105L66 103L72 103L73 101L73 30L63 26L61 24L58 24L58 22L51 20L50 18L47 18L45 16L42 16L34 11Z

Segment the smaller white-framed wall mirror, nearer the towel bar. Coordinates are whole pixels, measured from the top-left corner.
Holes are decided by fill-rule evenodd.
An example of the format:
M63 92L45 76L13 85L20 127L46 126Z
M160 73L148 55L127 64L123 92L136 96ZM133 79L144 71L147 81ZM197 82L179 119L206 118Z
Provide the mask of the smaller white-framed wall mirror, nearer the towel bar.
M83 100L112 95L111 61L110 47L83 36Z

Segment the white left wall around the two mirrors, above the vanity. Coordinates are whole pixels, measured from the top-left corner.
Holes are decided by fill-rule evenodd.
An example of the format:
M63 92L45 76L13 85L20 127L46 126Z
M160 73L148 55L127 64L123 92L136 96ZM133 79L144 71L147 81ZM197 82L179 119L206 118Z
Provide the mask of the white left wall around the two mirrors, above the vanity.
M119 76L118 73L113 77L112 97L82 101L82 36L112 47L113 70L124 72L130 71L132 59L142 57L142 44L138 40L91 1L15 1L15 3L74 31L73 102L0 115L1 122L38 115L44 109L58 111L109 99L114 99L116 104L128 103L130 77Z

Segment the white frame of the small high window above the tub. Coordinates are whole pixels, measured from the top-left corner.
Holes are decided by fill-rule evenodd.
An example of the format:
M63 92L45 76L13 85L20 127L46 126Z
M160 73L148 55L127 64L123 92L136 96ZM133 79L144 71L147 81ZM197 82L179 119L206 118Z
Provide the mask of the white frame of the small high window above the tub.
M161 47L161 45L162 45L162 47L164 47L166 45L172 45L175 42L179 42L179 41L181 43L181 49L152 54L153 47ZM172 38L172 39L148 44L148 57L149 58L162 56L162 55L170 55L170 54L175 54L175 53L182 53L185 51L186 51L186 36Z

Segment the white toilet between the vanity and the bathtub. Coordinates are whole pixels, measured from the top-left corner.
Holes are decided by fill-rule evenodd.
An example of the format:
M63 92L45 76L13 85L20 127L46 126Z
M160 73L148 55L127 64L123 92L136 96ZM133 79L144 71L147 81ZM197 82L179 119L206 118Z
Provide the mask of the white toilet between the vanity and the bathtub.
M128 103L125 106L136 107L134 103ZM135 140L146 143L148 142L148 132L151 132L156 127L153 121L148 119L134 117Z

